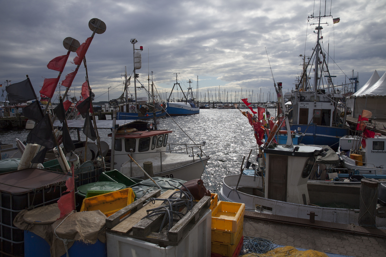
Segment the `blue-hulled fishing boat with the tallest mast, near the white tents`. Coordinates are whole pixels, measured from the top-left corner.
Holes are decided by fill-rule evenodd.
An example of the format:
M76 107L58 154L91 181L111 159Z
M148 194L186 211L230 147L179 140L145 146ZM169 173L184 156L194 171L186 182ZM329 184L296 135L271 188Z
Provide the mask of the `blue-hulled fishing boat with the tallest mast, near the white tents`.
M303 56L303 72L295 84L295 90L286 92L285 98L293 105L293 119L291 130L301 131L304 136L303 144L327 144L337 148L339 138L347 135L345 126L347 107L339 103L342 94L335 89L330 70L328 69L326 54L320 45L323 27L321 20L328 16L312 16L308 20L317 19L315 34L316 46L306 62ZM314 64L312 64L314 60ZM313 84L308 75L314 69ZM327 87L325 87L327 86ZM344 110L343 112L340 110Z

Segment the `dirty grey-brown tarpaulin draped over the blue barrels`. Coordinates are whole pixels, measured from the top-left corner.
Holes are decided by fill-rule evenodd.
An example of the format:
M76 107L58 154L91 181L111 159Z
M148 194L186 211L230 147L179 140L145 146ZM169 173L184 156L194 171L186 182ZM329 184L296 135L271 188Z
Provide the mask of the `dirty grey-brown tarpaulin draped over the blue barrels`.
M58 204L39 207L34 210L23 210L14 220L14 225L23 230L29 230L45 239L51 246L51 256L60 257L66 253L63 241L67 239L67 247L73 245L73 241L81 241L86 244L95 244L97 239L106 242L105 220L106 216L100 211L76 212L59 220L60 211ZM59 226L59 224L64 222Z

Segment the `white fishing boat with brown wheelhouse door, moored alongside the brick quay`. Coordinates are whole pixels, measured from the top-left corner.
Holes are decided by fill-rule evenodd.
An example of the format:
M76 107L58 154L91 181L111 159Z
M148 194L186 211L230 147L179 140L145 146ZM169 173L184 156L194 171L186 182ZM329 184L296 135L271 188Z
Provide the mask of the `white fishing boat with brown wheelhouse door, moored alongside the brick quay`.
M278 82L277 92L281 108L284 110L281 82ZM258 173L254 173L253 176L242 175L243 159L240 175L223 178L220 197L230 202L245 203L245 208L260 213L305 219L315 214L317 215L314 217L315 220L359 224L359 220L363 217L359 216L360 199L363 197L360 183L309 181L318 156L325 157L326 150L316 145L294 146L288 116L284 118L284 122L287 124L286 144L273 143L272 138L276 131L271 131L269 140L264 147L259 148L261 176ZM248 161L249 157L246 165ZM386 218L381 214L384 212L383 209L384 207L376 207L377 217L374 215L374 225L377 227L386 225Z

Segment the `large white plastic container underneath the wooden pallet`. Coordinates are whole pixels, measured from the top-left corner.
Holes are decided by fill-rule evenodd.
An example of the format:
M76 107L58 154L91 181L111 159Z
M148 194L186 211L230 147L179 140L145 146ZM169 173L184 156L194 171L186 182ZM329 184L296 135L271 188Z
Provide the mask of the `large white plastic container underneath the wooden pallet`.
M106 232L108 257L210 257L212 210L208 209L177 246L159 247L146 241Z

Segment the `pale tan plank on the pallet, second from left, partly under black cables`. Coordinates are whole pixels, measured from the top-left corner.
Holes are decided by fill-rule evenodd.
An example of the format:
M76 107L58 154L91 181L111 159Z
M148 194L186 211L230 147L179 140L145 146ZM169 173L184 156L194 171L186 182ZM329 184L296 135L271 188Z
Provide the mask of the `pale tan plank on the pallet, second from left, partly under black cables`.
M168 198L171 196L175 190L168 190L165 193L163 193L159 198ZM134 212L132 215L127 217L125 220L120 222L118 225L113 227L111 231L118 232L118 233L127 233L131 230L131 228L137 224L143 217L147 215L146 210L153 209L156 207L159 207L163 202L162 201L155 201L152 203L149 201L144 207Z

